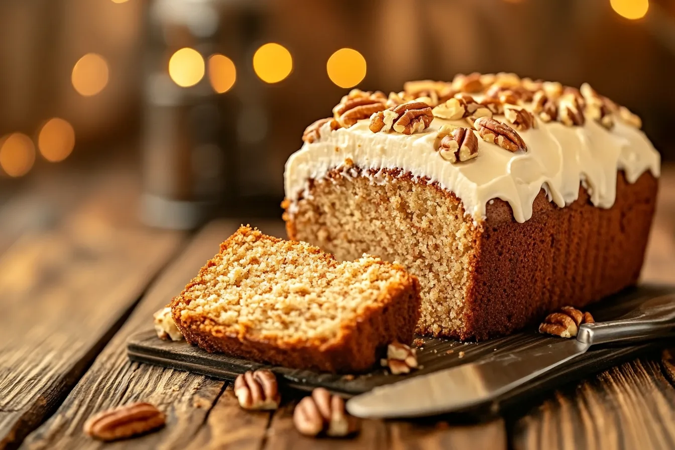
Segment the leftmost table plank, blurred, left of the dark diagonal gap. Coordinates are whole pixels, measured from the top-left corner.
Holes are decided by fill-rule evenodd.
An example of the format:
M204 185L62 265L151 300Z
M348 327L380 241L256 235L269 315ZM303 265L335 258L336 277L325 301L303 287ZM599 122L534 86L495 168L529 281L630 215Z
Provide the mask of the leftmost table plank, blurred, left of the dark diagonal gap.
M0 255L0 448L56 409L182 242L138 225L133 175L79 189L84 202Z

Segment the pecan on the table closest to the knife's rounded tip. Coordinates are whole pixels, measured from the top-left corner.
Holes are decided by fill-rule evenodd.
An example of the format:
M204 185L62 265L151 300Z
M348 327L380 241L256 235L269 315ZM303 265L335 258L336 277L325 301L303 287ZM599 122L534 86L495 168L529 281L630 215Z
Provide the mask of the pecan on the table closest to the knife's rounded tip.
M344 400L331 395L323 387L317 387L312 395L304 397L293 412L296 429L305 436L317 436L324 432L328 436L342 437L358 428L358 422L344 409Z

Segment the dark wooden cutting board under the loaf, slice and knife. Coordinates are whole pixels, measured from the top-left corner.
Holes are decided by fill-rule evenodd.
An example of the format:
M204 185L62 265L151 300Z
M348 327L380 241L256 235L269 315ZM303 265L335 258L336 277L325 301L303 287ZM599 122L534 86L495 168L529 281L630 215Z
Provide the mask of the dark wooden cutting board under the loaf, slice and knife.
M675 293L675 287L661 287L642 285L623 291L615 296L606 298L602 302L590 307L596 321L614 320L635 308L642 302L661 296L666 293ZM152 318L148 318L148 325ZM518 351L524 347L545 347L562 338L549 337L537 333L536 329L528 329L508 337L491 339L479 343L462 343L451 339L433 337L417 337L415 340L420 370L410 374L391 375L381 367L373 368L371 372L354 375L336 375L313 372L311 370L296 370L281 366L269 366L248 360L242 360L224 354L209 354L185 341L169 342L157 338L154 330L144 331L132 335L128 341L128 356L131 360L148 364L190 370L213 378L234 379L246 370L269 368L278 375L279 382L292 389L311 391L315 387L325 387L335 393L345 396L356 395L373 389L374 387L395 383L412 376L418 376L450 368L459 364L481 360L487 356L506 354ZM570 381L575 381L589 374L600 372L606 368L634 358L646 351L663 347L670 339L661 339L640 343L639 345L624 346L594 346L582 356L578 356L551 370L518 389L510 391L499 399L497 403L488 406L492 412L503 407L522 401L527 397L547 391ZM481 410L482 408L478 408Z

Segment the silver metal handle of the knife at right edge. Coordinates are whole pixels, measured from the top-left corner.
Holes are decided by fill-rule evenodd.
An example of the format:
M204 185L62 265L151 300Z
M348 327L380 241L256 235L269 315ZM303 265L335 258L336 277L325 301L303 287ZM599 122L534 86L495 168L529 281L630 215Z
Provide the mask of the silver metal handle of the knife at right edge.
M675 329L675 295L668 294L647 300L618 320L585 323L579 327L576 340L589 345L646 341L663 337Z

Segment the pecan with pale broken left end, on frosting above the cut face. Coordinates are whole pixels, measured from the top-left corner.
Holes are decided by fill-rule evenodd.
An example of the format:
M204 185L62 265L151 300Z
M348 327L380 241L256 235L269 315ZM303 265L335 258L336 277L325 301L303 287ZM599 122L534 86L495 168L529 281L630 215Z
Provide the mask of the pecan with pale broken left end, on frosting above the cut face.
M425 130L432 120L429 105L412 101L373 114L370 128L373 133L393 129L402 134L413 134Z

